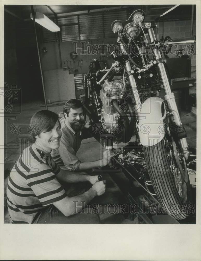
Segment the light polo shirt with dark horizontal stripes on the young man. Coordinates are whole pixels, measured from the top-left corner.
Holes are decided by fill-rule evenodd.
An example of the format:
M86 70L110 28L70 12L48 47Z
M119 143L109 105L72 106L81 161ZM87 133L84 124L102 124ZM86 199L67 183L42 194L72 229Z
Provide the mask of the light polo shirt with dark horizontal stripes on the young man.
M46 206L66 197L50 153L32 144L10 172L7 204L12 223L33 223Z

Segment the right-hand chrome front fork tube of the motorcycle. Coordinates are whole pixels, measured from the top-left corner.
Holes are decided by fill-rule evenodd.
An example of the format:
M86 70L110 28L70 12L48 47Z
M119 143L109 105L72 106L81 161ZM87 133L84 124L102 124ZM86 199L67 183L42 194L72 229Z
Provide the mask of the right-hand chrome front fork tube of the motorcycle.
M151 43L156 41L156 37L155 37L153 28L148 29L148 35L149 35ZM176 125L181 126L182 123L181 123L181 119L179 116L179 111L176 106L174 93L172 93L172 91L171 91L171 88L169 85L169 80L168 80L168 77L167 77L167 74L165 71L165 66L163 64L163 59L160 54L160 47L157 45L154 47L154 55L155 55L156 61L158 63L159 72L160 72L163 86L164 86L164 89L166 92L166 95L164 96L164 98L167 101L168 108L172 111L172 115L173 115L172 121ZM187 150L188 144L187 144L186 138L182 138L179 141L180 141L181 147L184 152L184 157L187 159L188 158L188 150Z

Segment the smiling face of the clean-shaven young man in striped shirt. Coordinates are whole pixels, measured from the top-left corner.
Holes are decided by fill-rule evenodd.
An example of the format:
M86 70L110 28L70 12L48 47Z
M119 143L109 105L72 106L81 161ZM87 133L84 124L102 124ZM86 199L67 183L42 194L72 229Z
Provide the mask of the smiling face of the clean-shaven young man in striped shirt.
M61 127L57 121L53 129L48 132L41 132L35 136L35 144L38 144L45 151L51 152L53 149L58 149L61 136Z

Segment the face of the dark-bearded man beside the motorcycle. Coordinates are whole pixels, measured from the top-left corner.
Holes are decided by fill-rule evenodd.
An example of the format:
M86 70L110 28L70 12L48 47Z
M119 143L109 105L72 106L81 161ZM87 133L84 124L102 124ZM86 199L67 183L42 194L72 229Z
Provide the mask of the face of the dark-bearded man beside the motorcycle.
M80 131L85 124L82 108L72 109L70 108L69 114L64 114L68 123L74 131Z

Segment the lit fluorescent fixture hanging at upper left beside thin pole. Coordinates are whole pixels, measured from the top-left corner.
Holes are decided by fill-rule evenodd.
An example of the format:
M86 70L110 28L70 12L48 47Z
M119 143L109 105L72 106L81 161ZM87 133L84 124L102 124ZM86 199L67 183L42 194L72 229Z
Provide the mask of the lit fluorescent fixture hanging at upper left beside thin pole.
M34 15L36 23L39 23L39 25L45 27L47 30L50 30L51 32L60 31L60 28L54 22L52 22L52 20L50 20L46 15L39 12L35 12ZM33 20L32 13L30 14L30 17Z

